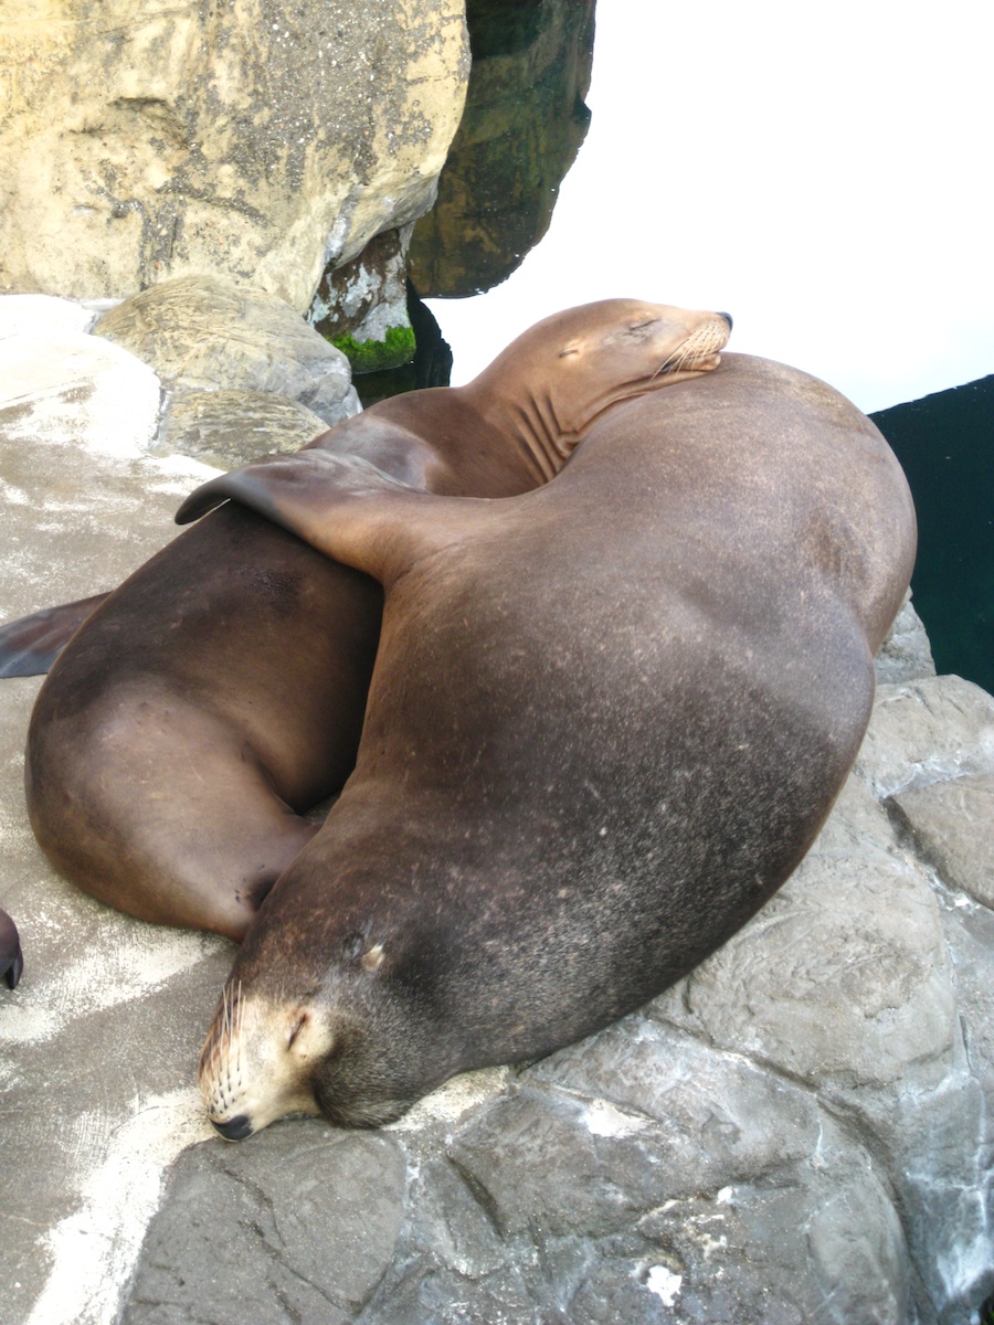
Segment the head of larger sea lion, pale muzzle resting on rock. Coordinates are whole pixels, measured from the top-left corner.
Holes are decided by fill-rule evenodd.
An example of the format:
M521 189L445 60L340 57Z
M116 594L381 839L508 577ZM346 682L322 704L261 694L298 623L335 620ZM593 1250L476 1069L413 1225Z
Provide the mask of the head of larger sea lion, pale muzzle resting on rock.
M452 1075L404 910L379 924L368 905L330 914L304 896L266 898L200 1056L200 1089L223 1137L241 1141L288 1114L380 1126Z

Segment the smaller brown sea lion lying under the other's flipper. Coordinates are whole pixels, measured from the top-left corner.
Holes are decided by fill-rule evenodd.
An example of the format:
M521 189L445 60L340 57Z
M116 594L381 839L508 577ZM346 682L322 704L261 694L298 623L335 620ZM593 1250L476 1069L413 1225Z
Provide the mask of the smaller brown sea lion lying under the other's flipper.
M637 299L573 309L469 386L386 400L305 453L360 456L432 493L518 494L616 401L713 367L728 331ZM133 916L241 939L315 832L305 812L351 771L380 602L371 579L237 506L166 547L38 694L25 784L49 860Z

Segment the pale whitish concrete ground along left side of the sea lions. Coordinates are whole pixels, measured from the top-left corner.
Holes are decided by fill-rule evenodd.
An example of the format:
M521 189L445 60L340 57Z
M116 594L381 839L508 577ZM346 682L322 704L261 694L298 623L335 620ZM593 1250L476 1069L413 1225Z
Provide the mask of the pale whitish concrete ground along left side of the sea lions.
M0 299L0 620L119 583L204 474L146 454L159 383L57 299ZM209 1133L195 1064L229 945L127 920L48 867L24 807L40 677L0 688L0 905L25 953L0 1002L0 1300L113 1318L166 1165Z

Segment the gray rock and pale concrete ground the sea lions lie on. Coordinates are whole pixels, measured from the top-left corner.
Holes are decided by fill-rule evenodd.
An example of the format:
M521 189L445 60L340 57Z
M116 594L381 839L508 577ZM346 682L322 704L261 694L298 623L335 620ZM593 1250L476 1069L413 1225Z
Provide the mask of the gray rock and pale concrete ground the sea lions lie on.
M209 470L148 453L147 366L72 306L5 305L16 616L117 583ZM679 986L388 1129L289 1121L241 1146L211 1137L193 1085L231 945L49 869L21 788L40 682L3 682L0 905L25 950L0 991L5 1320L975 1320L994 1288L994 912L965 885L989 851L994 698L924 676L918 648L907 668L801 869Z

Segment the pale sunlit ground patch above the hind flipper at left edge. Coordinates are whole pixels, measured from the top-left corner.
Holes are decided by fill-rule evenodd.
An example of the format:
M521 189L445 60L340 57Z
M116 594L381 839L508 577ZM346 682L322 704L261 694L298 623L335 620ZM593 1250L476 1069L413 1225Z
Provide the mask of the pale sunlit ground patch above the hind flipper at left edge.
M25 325L24 305L0 298L3 620L119 583L172 537L184 490L147 457L162 394L151 368L64 330L78 322L74 305L49 299L34 313L29 334L8 334Z

